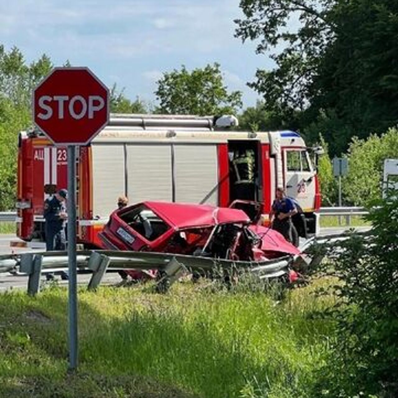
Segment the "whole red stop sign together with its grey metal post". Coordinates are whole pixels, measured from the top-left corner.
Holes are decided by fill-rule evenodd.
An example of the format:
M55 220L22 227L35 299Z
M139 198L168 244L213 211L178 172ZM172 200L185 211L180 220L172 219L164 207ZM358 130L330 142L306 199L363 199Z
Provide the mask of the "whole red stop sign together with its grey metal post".
M75 370L78 364L76 146L89 144L107 125L109 90L88 68L54 68L33 91L32 102L35 125L55 145L68 148L69 369Z

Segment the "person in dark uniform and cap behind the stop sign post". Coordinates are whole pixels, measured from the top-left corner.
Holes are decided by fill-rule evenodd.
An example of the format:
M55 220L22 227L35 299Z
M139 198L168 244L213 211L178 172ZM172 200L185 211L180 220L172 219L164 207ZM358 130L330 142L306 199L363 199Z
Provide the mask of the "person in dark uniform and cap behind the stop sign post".
M61 232L66 220L63 202L66 201L68 192L60 189L44 202L46 250L64 250L62 247Z

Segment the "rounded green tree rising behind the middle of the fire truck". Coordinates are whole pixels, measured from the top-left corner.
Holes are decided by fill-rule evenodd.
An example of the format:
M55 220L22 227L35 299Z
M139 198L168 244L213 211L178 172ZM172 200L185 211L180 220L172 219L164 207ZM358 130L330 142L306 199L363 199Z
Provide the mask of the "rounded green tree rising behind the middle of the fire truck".
M242 93L228 93L217 63L191 72L183 65L181 70L164 73L157 84L155 95L160 101L161 113L236 114L237 109L242 107Z

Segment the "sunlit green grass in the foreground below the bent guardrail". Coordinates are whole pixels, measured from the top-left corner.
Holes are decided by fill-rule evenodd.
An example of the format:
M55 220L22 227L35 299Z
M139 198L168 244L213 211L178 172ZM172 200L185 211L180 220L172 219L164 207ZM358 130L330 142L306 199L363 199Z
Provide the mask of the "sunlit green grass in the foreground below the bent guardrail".
M265 293L178 283L79 291L76 375L67 367L67 295L0 296L0 396L297 397L328 351L330 304L313 287Z

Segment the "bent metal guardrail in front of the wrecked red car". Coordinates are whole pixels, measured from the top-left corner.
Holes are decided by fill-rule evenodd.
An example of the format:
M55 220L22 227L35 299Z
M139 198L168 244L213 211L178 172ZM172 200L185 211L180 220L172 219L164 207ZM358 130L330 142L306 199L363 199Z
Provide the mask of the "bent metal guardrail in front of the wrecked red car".
M165 291L185 271L199 273L212 270L246 269L253 272L259 279L281 277L289 273L289 265L293 256L269 259L265 261L232 261L207 257L186 256L154 252L120 252L114 250L78 250L77 267L80 270L91 270L92 278L88 289L93 290L101 283L107 269L149 270L157 269L162 277L157 284L158 291ZM66 252L21 253L0 255L0 272L25 274L28 279L28 293L35 295L40 289L42 272L57 272L67 269Z

